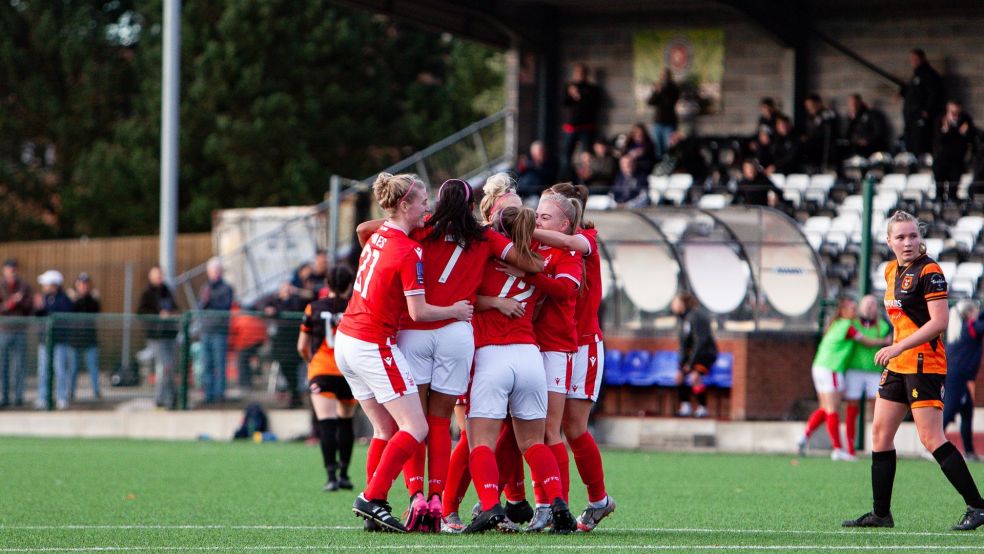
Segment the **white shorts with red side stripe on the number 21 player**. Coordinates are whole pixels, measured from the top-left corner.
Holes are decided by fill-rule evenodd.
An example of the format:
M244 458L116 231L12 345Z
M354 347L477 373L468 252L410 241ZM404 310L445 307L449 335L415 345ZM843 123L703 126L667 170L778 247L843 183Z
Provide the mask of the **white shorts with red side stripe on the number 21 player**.
M385 404L406 394L417 394L417 385L400 347L376 344L335 333L335 363L357 400L375 398Z

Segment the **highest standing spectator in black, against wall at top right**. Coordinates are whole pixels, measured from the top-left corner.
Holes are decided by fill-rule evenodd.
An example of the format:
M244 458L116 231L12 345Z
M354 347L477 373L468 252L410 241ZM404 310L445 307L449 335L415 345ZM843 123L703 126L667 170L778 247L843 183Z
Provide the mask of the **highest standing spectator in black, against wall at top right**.
M933 123L943 114L943 78L919 48L909 51L909 62L912 77L900 91L904 99L905 149L921 156L932 149Z

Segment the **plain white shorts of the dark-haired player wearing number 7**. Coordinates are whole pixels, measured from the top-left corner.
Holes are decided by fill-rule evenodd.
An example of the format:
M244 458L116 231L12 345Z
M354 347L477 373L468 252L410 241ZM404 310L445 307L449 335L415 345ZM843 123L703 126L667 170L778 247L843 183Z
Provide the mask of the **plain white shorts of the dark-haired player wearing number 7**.
M396 344L410 362L417 385L451 396L468 390L468 372L475 357L475 331L467 321L440 329L404 329Z

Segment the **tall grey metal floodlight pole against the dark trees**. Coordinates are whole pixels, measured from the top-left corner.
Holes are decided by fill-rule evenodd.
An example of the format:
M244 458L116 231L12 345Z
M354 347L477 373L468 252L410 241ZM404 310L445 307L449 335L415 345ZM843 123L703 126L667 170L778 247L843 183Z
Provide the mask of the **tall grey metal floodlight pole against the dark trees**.
M181 84L181 0L164 0L164 56L161 64L160 266L171 283L178 228L178 124Z

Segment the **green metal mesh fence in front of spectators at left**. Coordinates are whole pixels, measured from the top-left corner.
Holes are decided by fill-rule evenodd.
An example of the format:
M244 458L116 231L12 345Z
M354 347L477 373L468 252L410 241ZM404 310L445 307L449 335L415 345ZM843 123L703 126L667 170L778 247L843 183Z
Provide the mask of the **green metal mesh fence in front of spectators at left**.
M0 318L7 408L194 409L298 404L305 387L298 312L173 317L58 313Z

